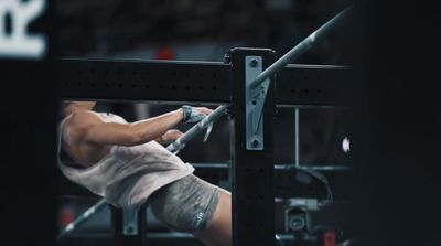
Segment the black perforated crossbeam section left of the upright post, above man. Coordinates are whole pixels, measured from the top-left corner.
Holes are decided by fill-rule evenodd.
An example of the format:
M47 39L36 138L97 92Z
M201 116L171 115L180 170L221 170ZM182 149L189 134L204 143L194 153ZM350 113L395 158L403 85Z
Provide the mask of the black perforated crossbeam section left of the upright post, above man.
M63 58L63 99L229 103L229 65L212 62Z

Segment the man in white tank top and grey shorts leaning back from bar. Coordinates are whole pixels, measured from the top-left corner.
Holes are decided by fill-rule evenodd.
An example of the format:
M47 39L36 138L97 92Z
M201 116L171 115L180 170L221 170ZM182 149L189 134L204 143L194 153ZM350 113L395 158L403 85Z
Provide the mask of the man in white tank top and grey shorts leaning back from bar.
M208 246L232 244L230 193L193 175L194 168L159 142L182 132L180 122L196 122L212 113L183 106L136 122L93 111L94 101L64 101L60 148L72 162L58 161L73 182L118 207L148 202L171 229L189 232ZM159 142L158 142L159 141Z

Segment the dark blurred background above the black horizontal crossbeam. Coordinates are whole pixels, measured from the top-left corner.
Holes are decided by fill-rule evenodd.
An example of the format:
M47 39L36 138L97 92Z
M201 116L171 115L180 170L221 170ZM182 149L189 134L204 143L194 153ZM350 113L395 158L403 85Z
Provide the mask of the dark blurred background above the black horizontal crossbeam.
M235 46L283 54L347 0L60 0L62 56L222 61ZM345 64L338 34L298 62Z

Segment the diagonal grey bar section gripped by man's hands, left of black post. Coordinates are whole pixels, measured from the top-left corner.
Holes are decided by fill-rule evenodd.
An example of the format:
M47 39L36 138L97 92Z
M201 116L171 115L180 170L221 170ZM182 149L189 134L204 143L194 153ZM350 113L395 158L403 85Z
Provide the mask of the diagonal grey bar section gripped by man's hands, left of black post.
M223 105L217 107L214 111L212 111L207 117L202 119L200 122L194 125L192 128L190 128L183 136L178 138L174 142L170 143L166 149L170 152L175 152L178 150L181 150L184 148L185 143L187 143L190 140L192 140L195 136L201 133L205 128L209 126L209 124L216 121L218 118L220 118L227 111L227 106Z

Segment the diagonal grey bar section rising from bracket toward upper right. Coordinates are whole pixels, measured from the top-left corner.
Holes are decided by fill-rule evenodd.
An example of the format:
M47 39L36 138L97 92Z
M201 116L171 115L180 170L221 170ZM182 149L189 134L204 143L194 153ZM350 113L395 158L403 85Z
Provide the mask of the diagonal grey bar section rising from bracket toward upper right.
M287 66L289 63L291 63L292 61L298 58L304 52L306 52L308 50L313 47L316 43L322 41L325 35L327 35L342 21L345 20L345 18L347 17L349 10L351 10L351 7L344 9L337 15L335 15L330 21L327 21L322 26L320 26L315 32L311 33L306 39L304 39L302 42L300 42L298 45L295 45L291 51L286 53L282 57L280 57L278 61L276 61L271 66L266 68L259 76L257 76L250 83L250 86L251 87L259 86L267 78L273 76L277 72L279 72L284 66Z

